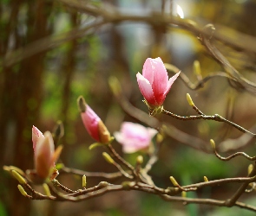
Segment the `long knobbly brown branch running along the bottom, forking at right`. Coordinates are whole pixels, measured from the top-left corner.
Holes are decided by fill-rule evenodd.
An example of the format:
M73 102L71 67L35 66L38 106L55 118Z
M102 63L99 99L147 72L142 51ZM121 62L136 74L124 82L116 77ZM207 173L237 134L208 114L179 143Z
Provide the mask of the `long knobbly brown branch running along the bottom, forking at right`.
M56 196L45 196L43 194L40 194L32 189L30 185L26 185L27 188L29 188L32 196L29 197L32 200L68 200L68 201L82 201L82 200L89 200L91 198L94 198L96 196L100 196L103 194L107 194L110 192L115 191L124 191L124 190L139 190L148 194L156 194L159 195L163 200L172 201L172 202L182 202L186 204L194 203L194 204L203 204L203 205L210 205L210 206L239 206L241 208L245 208L247 210L256 212L255 206L249 206L245 203L236 201L241 194L244 193L244 189L247 187L247 185L255 181L256 179L256 169L253 168L253 171L250 175L254 175L253 177L247 177L247 178L230 178L230 179L222 179L222 180L215 180L215 181L205 181L200 182L193 185L187 185L184 187L170 187L169 189L163 189L160 187L155 187L152 185L148 185L147 183L138 182L135 183L135 181L128 181L123 182L122 185L112 185L109 184L106 181L100 182L95 187L90 187L88 189L82 189L78 190L73 194L62 194L59 191L56 190L56 187L53 185L49 185L52 189L52 192L56 194ZM220 184L228 183L228 182L244 182L242 186L238 189L238 191L233 195L233 197L230 200L213 200L213 199L195 199L195 198L186 198L186 197L179 197L179 196L170 196L169 194L177 194L179 191L190 191L194 189L198 189L200 187L207 187L207 186L217 186Z

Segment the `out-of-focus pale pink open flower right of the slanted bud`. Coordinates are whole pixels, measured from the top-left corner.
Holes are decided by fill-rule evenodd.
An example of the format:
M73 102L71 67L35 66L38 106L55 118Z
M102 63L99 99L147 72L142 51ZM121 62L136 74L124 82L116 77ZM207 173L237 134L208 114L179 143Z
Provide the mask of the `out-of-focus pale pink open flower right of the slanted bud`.
M146 128L141 124L124 122L121 124L120 132L115 132L114 137L121 143L125 153L133 153L140 149L148 148L151 139L157 133L153 128Z

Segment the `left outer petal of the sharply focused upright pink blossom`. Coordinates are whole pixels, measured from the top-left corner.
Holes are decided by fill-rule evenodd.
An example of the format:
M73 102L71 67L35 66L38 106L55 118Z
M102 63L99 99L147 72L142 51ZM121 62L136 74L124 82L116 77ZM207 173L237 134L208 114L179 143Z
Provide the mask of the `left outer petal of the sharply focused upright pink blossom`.
M148 101L148 104L157 105L156 100L154 98L154 92L153 92L152 86L149 83L148 79L144 78L141 75L141 73L137 73L136 77L137 77L138 85L141 90L141 94Z

